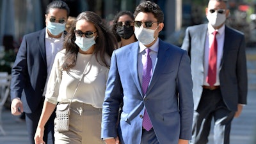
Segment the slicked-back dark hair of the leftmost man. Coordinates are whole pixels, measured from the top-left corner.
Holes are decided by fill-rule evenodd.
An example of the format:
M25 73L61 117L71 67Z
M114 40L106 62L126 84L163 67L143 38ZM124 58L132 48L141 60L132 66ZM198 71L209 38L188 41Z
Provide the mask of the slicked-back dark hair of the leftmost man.
M58 9L66 10L67 17L69 15L68 4L65 3L64 1L52 1L52 3L47 5L45 13L48 14L51 8L58 8Z

